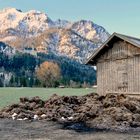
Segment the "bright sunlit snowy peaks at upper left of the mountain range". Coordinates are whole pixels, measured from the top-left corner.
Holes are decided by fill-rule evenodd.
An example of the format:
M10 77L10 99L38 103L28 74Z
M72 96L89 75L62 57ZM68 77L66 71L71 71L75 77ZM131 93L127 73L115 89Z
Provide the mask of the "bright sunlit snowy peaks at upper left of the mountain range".
M55 24L45 14L31 10L23 13L15 8L7 8L0 12L0 32L14 29L22 36L37 35ZM12 30L10 30L12 32ZM9 33L10 33L9 31Z

